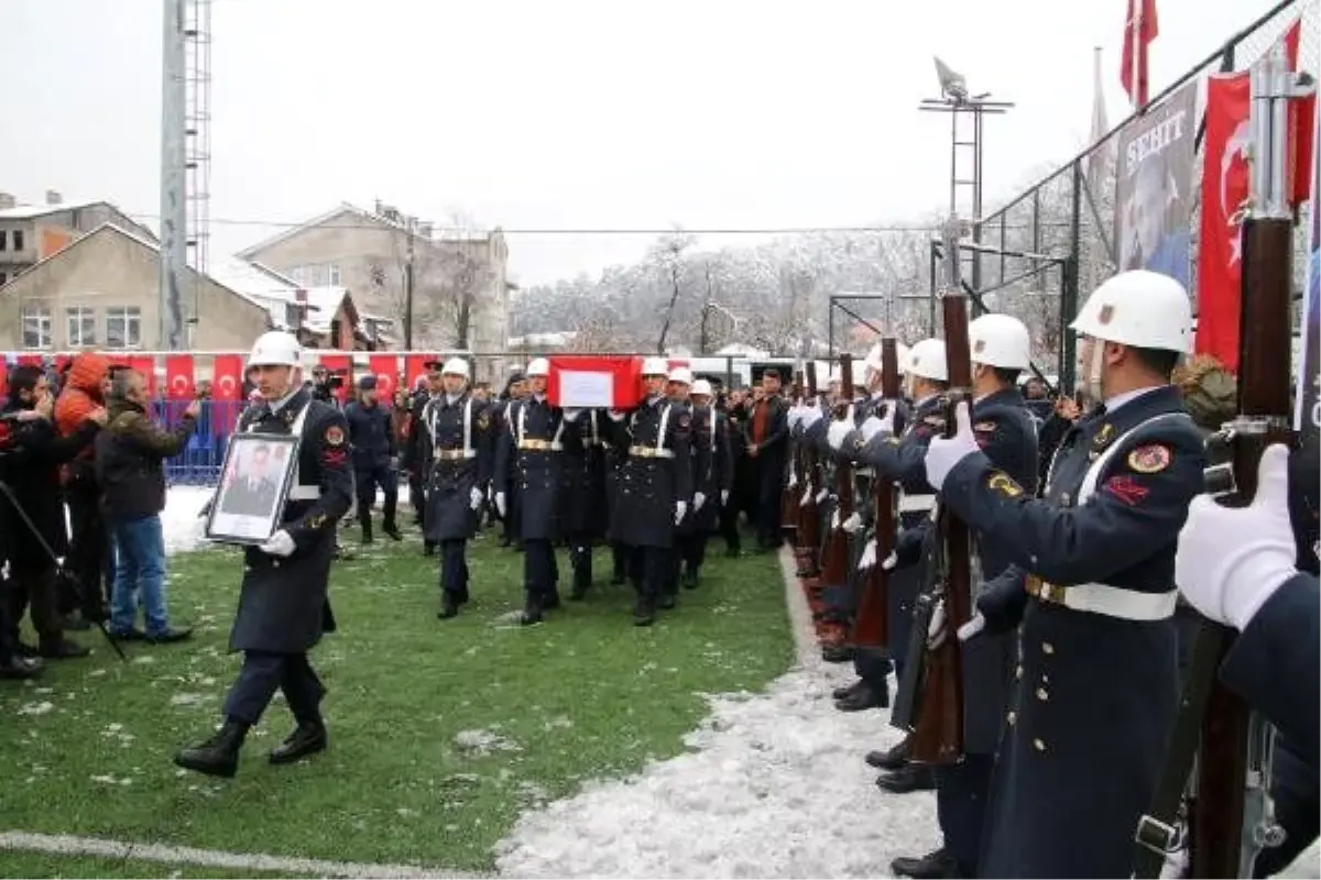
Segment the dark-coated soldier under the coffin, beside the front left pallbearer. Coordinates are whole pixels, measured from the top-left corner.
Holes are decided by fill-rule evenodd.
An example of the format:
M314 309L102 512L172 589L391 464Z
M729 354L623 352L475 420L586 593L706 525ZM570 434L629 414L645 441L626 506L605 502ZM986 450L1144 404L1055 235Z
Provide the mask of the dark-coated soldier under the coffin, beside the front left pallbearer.
M592 586L592 548L605 534L606 489L605 446L608 427L604 410L568 410L564 445L564 524L573 566L569 599L580 600Z

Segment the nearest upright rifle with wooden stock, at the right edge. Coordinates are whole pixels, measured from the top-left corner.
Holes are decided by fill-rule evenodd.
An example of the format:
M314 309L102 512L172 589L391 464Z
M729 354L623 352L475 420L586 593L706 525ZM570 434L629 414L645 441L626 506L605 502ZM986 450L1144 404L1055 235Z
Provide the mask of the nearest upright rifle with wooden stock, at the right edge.
M1210 441L1226 443L1232 459L1209 468L1206 480L1218 501L1230 507L1251 503L1266 447L1293 443L1288 102L1300 91L1281 49L1252 69L1251 91L1251 195L1240 230L1239 414ZM1160 877L1168 856L1185 844L1192 880L1247 879L1256 856L1284 842L1269 796L1273 731L1218 679L1234 637L1231 628L1210 620L1198 627L1165 768L1136 833L1136 880ZM1180 827L1185 800L1186 835Z

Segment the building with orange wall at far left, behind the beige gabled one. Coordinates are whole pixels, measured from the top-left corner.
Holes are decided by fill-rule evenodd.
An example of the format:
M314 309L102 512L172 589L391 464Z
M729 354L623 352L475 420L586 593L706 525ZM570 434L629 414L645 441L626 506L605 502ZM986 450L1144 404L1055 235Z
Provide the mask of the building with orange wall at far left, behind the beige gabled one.
M108 202L65 202L49 190L42 203L24 204L0 193L0 288L106 223L156 241L151 230Z

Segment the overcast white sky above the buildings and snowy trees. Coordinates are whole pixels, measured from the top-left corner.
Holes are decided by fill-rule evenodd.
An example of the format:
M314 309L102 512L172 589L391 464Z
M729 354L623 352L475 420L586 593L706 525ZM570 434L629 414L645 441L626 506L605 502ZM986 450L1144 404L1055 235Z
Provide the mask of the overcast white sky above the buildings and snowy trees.
M1157 0L1153 92L1272 5ZM161 7L0 0L0 190L159 212ZM214 0L213 261L378 197L509 230L925 215L947 199L947 119L914 110L938 91L934 53L1017 103L988 123L991 206L1086 141L1092 46L1123 117L1124 16L1125 0ZM510 264L550 281L647 241L511 235Z

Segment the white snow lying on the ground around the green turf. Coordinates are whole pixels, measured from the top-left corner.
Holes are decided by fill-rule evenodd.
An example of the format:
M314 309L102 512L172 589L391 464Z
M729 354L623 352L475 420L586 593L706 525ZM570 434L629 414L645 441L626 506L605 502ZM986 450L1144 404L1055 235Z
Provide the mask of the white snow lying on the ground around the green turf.
M407 489L402 487L400 507ZM162 515L170 553L201 544L211 489L174 487ZM799 610L801 612L802 610ZM802 627L799 627L802 629ZM811 652L803 652L804 658ZM884 877L898 855L938 843L931 794L886 794L863 756L898 735L881 712L836 711L849 666L807 661L764 694L711 698L688 752L626 780L531 809L498 847L513 879L783 880ZM1281 880L1321 877L1313 847Z

